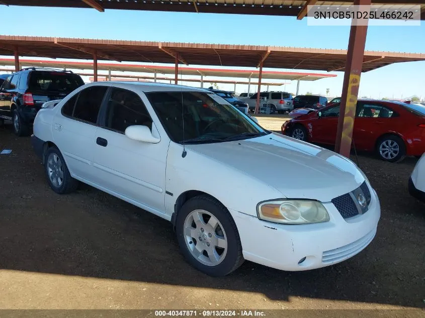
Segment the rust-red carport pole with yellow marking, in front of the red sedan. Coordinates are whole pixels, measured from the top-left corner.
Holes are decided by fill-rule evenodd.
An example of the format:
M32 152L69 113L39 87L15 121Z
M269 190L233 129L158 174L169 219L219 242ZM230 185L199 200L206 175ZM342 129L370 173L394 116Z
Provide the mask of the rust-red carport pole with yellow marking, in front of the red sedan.
M354 6L370 6L371 0L355 0ZM350 40L347 49L347 61L344 73L343 93L336 132L335 152L349 158L353 137L354 117L356 114L357 95L359 93L360 75L362 73L363 55L365 53L366 25L355 25L352 20Z

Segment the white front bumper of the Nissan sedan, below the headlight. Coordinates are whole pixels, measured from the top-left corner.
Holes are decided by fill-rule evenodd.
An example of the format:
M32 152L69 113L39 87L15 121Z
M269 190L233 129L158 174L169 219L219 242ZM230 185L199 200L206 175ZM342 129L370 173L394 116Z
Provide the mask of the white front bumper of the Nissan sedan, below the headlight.
M315 269L347 260L375 237L381 208L376 192L372 193L367 213L350 219L343 219L331 202L323 203L330 221L318 224L281 225L230 210L243 257L286 271Z

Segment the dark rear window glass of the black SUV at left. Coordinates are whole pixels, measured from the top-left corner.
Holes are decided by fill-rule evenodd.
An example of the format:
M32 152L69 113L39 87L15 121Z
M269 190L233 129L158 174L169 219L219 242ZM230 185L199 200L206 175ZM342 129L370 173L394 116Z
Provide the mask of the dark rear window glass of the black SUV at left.
M31 72L29 90L69 93L83 85L81 77L62 72Z

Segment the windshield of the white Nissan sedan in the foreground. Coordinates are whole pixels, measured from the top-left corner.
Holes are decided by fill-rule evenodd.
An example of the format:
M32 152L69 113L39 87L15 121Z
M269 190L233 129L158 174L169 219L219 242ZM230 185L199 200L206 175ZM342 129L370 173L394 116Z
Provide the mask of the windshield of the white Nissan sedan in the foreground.
M168 136L177 143L223 142L269 134L215 93L147 92ZM184 128L184 133L183 133Z

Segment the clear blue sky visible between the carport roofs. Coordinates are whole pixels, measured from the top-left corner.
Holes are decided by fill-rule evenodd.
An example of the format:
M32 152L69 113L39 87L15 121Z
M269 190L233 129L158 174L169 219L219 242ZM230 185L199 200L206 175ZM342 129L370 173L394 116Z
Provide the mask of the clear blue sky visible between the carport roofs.
M307 26L306 19L299 21L295 17L125 10L101 13L94 9L2 5L0 14L19 17L19 23L4 25L0 34L21 36L347 49L350 33L347 26ZM40 23L42 20L44 23ZM366 50L425 53L425 21L421 21L421 26L369 26ZM341 95L344 73L330 73L337 77L301 81L299 93L324 95L328 88L329 95ZM204 87L209 85L204 83ZM218 86L233 90L233 84ZM262 86L262 90L265 89ZM296 81L270 89L295 93ZM254 90L257 86L251 85L250 91ZM246 92L247 85L238 84L236 91ZM411 95L425 98L425 61L396 63L362 73L359 96L403 98Z

